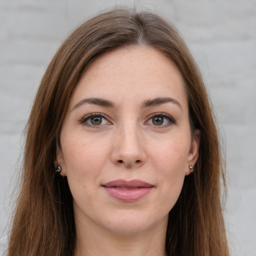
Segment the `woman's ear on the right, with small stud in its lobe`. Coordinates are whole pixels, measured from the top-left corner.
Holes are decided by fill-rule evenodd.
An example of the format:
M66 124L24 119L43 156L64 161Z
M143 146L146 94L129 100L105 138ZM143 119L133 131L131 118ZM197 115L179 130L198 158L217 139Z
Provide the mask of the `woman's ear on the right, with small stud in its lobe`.
M189 169L189 165L194 166L197 161L198 153L199 153L199 145L200 145L200 136L201 136L201 131L199 129L196 129L191 139L191 144L190 144L188 157L187 157L187 168L185 171L185 175L189 175L191 172Z

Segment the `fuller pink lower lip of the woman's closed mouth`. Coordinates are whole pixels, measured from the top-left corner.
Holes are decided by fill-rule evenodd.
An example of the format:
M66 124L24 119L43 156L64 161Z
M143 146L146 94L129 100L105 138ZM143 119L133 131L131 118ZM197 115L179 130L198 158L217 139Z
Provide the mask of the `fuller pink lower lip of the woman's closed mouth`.
M135 189L120 189L116 187L106 187L104 189L107 193L121 201L132 202L146 196L153 187L139 187Z

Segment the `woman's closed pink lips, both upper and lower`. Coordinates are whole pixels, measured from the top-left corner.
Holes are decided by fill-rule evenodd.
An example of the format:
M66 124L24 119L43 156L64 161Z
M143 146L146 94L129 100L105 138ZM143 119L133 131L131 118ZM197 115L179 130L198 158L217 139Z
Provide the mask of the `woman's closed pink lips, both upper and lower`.
M133 179L116 179L102 184L106 192L113 198L121 201L136 201L146 196L154 187L145 181Z

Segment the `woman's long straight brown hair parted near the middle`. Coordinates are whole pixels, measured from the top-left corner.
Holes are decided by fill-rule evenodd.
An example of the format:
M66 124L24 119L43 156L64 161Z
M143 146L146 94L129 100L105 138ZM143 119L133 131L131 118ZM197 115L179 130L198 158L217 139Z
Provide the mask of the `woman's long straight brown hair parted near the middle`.
M201 74L176 29L152 12L113 9L84 22L62 43L38 88L26 129L20 193L7 255L73 255L76 235L72 195L53 160L71 92L101 53L147 45L179 69L191 131L199 129L199 158L169 212L167 255L229 255L220 203L224 180L219 138Z

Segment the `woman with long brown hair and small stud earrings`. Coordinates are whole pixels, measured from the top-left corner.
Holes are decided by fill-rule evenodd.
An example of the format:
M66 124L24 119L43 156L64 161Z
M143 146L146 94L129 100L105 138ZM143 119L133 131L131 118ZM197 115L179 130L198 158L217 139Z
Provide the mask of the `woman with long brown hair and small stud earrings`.
M207 93L175 28L102 13L42 78L7 255L228 255L220 177Z

